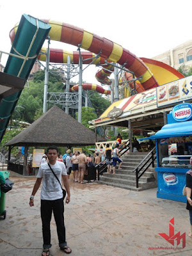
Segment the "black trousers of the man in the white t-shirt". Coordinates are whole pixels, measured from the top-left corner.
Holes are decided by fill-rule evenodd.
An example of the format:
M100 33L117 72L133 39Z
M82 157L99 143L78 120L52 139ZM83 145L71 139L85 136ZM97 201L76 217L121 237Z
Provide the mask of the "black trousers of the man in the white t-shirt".
M49 249L51 247L50 222L51 222L52 211L53 211L54 220L57 226L59 245L60 247L67 245L65 241L63 198L60 198L58 200L41 200L41 218L42 218L42 229L43 229L45 249Z

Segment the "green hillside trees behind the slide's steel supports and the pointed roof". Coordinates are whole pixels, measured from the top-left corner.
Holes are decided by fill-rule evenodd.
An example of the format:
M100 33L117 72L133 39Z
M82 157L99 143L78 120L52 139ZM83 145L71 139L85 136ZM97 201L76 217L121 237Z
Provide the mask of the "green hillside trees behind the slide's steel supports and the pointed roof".
M45 72L44 70L40 70L36 72L33 81L29 81L29 88L24 88L24 90L22 90L17 102L17 107L13 112L13 116L15 116L17 120L29 122L31 124L42 115L44 104L44 79ZM48 92L64 92L62 77L58 75L54 69L49 73ZM86 127L88 126L86 123L87 120L89 121L97 118L97 116L101 115L110 105L109 100L102 97L100 93L89 92L89 95L94 109L90 113L86 113L88 117L86 117L85 120L84 117L82 118L82 120L84 120L82 122L83 124L86 124ZM51 108L51 105L48 106L48 109L49 108ZM97 115L94 114L94 111Z

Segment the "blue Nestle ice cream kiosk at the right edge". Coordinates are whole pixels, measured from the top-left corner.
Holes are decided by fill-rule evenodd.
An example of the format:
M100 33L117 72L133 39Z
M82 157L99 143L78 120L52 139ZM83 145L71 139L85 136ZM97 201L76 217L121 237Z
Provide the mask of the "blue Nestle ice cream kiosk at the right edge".
M150 136L151 140L156 140L157 198L186 202L182 193L186 172L192 168L192 104L175 106L167 119L168 124Z

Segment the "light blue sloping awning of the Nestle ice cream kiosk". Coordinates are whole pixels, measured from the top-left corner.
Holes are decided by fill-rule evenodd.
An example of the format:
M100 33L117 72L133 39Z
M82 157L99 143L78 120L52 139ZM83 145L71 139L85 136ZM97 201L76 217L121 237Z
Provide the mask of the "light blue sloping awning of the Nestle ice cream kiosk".
M164 125L160 131L143 140L156 140L161 138L179 137L192 135L192 120ZM141 139L142 140L142 139Z

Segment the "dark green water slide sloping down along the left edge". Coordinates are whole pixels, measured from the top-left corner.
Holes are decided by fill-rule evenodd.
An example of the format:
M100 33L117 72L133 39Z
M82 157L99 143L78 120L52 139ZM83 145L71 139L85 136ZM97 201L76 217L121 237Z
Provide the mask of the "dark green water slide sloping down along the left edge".
M28 79L31 68L35 63L36 57L50 29L51 26L46 22L31 17L30 15L22 15L10 51L11 54L22 58L10 55L6 67L4 68L4 73ZM8 126L20 93L21 91L5 97L0 104L0 141L6 131L6 127Z

